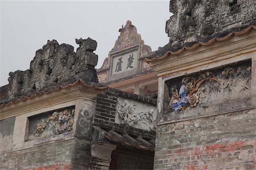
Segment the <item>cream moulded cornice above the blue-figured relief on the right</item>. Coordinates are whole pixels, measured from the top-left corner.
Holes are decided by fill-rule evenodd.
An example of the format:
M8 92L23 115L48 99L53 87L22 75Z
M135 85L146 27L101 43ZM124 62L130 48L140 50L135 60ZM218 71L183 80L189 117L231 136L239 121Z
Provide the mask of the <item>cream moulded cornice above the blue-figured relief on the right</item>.
M159 58L148 59L148 62L158 76L165 76L234 58L241 61L251 58L250 54L255 51L256 31L252 29L242 35L229 36L225 40L213 41L182 53L167 53Z

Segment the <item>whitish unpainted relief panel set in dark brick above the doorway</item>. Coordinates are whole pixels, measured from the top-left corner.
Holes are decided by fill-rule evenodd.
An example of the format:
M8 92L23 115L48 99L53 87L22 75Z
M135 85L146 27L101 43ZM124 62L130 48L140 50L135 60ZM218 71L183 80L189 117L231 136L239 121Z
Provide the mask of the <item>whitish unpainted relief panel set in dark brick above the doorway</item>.
M155 107L118 97L115 122L138 129L155 131L155 111Z

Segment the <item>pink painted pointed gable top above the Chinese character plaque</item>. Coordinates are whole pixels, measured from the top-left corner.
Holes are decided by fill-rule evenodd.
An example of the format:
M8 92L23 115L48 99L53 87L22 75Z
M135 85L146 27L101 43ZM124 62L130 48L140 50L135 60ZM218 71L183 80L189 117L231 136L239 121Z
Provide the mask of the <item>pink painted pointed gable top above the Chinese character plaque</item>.
M150 46L144 45L141 35L137 33L137 28L131 24L130 20L127 20L125 27L122 26L122 28L119 29L119 32L120 36L118 36L117 41L115 41L114 48L110 53L118 52L139 44L141 44L141 57L146 56L151 52Z

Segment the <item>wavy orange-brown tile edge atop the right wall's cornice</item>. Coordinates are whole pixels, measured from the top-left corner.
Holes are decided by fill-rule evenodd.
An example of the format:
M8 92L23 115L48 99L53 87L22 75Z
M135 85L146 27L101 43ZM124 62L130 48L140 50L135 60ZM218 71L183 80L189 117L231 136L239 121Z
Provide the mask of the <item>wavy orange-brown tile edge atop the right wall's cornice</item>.
M249 27L247 27L245 29L242 29L241 31L230 32L230 33L228 33L228 35L225 35L225 36L213 37L212 39L209 39L206 42L202 41L202 42L194 43L191 46L183 46L182 48L177 49L177 50L170 50L170 49L174 49L174 48L172 48L172 46L170 46L170 44L167 44L166 46L164 46L164 48L162 48L163 51L166 51L166 52L164 52L163 55L159 56L160 52L156 52L156 54L154 56L151 56L152 58L146 58L146 61L151 62L151 61L155 61L156 59L163 59L163 58L166 58L167 56L169 56L170 54L171 55L180 54L180 53L184 52L184 50L192 50L192 49L199 48L200 46L210 45L215 41L225 41L225 40L229 39L232 36L243 35L243 34L249 32L253 29L256 29L256 25L250 25ZM169 50L166 50L168 48L169 48Z

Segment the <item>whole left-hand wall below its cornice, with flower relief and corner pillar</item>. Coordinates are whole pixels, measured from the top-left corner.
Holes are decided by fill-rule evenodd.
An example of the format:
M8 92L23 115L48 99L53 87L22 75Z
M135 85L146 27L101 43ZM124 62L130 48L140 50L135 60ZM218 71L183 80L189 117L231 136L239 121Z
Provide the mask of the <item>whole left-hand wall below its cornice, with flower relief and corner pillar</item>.
M0 120L0 169L92 168L90 138L95 104L80 102L77 109L73 104L62 104L65 108Z

